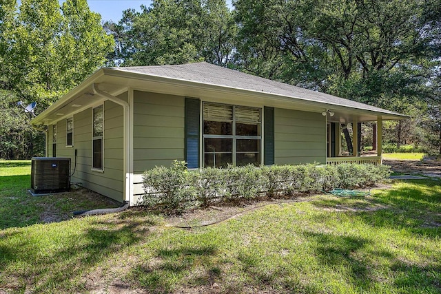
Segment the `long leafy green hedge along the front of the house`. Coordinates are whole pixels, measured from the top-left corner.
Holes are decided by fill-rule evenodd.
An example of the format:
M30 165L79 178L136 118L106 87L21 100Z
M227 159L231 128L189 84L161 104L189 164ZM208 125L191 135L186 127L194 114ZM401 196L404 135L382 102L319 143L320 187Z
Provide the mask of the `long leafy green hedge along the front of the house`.
M155 167L143 174L147 206L183 211L212 202L234 201L294 192L371 187L388 178L390 169L380 165L272 165L265 167L207 167L187 171L185 162L170 168Z

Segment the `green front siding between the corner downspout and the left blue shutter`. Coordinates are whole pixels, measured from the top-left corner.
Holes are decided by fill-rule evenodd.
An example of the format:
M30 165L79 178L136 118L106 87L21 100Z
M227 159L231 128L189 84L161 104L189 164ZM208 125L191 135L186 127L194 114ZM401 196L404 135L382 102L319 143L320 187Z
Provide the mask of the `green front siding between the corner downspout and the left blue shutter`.
M185 97L134 91L134 172L184 160Z

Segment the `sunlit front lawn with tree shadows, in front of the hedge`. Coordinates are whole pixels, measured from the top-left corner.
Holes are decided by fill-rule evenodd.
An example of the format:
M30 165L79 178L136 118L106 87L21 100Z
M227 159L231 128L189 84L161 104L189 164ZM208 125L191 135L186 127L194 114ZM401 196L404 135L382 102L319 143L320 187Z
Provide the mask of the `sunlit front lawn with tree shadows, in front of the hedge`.
M420 180L192 230L142 209L9 227L0 293L440 293L440 211L440 183Z

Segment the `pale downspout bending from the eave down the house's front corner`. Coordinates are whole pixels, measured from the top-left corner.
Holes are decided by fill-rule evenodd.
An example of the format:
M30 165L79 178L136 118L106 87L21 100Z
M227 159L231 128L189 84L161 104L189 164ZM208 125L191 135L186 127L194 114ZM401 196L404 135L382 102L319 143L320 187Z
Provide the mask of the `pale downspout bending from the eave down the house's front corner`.
M98 88L99 84L93 83L92 90L94 94L101 96L107 100L110 100L116 104L119 104L124 109L124 166L123 166L123 174L125 175L124 182L124 200L130 205L130 180L132 178L132 171L130 171L130 105L126 101L123 101L120 98L110 95L109 93L103 92Z

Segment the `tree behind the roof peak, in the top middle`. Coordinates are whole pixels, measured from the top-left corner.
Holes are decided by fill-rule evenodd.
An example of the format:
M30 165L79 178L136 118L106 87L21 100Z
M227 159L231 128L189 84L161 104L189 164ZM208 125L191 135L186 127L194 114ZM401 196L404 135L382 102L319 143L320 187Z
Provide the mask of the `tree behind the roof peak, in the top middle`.
M116 36L114 63L229 63L236 25L225 0L155 0L141 8L126 10L118 24L105 23Z

